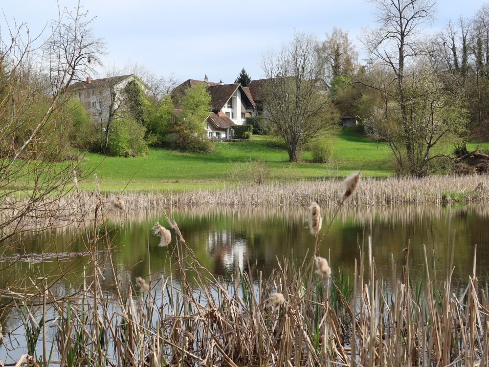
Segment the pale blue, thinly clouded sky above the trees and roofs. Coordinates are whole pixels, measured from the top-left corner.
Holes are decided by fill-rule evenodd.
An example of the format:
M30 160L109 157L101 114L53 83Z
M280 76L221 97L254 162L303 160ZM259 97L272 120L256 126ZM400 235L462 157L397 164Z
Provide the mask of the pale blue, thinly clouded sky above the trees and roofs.
M72 8L75 0L59 0ZM96 20L93 31L107 43L105 64L137 62L158 75L180 80L232 83L241 68L252 79L263 76L261 55L289 41L294 29L324 38L333 26L348 31L356 44L364 26L374 27L373 5L364 0L84 0ZM471 16L481 0L439 0L432 32L448 19ZM57 17L55 0L0 0L5 19L41 30ZM5 19L3 19L5 18Z

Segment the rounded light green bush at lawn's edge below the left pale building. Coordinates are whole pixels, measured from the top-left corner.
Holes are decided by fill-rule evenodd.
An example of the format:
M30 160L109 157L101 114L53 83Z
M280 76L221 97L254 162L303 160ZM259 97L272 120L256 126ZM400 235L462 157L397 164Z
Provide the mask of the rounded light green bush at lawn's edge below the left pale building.
M147 155L149 149L145 134L146 128L133 119L114 120L109 136L109 154L119 157Z

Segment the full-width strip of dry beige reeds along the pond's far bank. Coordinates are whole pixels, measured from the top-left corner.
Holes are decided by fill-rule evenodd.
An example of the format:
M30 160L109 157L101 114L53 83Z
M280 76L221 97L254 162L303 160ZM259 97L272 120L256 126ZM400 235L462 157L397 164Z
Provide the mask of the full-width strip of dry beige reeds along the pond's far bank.
M165 208L219 207L308 207L317 202L323 208L338 206L342 202L342 182L339 180L300 181L296 183L270 183L242 185L223 189L181 192L106 193L72 191L56 200L46 199L40 208L32 210L22 220L14 221L10 229L46 228L56 224L88 218L102 200L107 212L117 211L111 205L114 197L125 203L124 210L144 211ZM363 179L358 192L345 206L387 206L392 204L478 203L489 199L489 176L434 176L423 179L385 180ZM23 207L21 198L8 198L0 219L13 218ZM9 228L3 229L8 233ZM4 233L4 234L5 234Z

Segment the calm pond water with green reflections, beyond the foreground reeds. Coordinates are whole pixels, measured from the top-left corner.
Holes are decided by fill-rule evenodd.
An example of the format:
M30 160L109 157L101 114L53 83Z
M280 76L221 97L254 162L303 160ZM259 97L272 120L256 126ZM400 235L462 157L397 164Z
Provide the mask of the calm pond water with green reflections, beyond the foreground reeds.
M334 210L323 210L323 231L333 217ZM307 225L307 209L219 209L200 208L168 213L181 230L187 245L197 258L214 274L226 276L237 268L244 272L249 267L269 274L277 266L277 257L302 260L310 256L314 237ZM156 221L169 227L162 213L149 214L149 226ZM27 233L2 244L2 256L12 254L40 254L46 252L86 252L86 235L80 226L70 225L42 233ZM175 232L167 248L158 247L159 238L150 230L149 254L147 225L144 213L113 216L108 222L108 235L114 248L113 261L119 273L129 278L151 272L167 272L174 259ZM353 273L355 258L360 248L372 237L373 255L379 276L392 276L392 262L404 264L403 249L410 243L411 275L420 276L424 269L423 246L426 246L430 266L442 276L446 274L449 244L455 241L454 278L465 280L471 274L474 250L477 245L477 275L488 279L489 264L489 210L486 206L395 206L382 208L342 208L333 221L321 255L330 259L333 274L339 268ZM308 255L309 253L309 255ZM0 286L4 288L19 275L49 274L56 276L59 267L69 269L61 282L76 284L89 257L69 260L18 262L7 266L0 262ZM333 275L334 276L334 275ZM104 281L110 290L110 274Z

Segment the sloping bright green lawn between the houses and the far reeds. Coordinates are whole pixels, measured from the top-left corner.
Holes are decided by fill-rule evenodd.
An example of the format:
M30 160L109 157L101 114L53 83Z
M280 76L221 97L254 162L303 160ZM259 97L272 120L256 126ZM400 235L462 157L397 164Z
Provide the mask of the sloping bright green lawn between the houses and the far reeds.
M370 141L350 129L343 129L333 140L334 153L330 163L290 163L287 151L280 142L269 136L253 136L251 140L215 143L210 154L182 153L153 148L147 157L119 158L87 154L86 169L95 169L102 181L102 190L180 190L203 187L222 187L234 184L227 181L233 162L266 161L271 180L290 181L321 177L343 177L363 166L362 175L386 177L393 174L390 152L386 143ZM309 159L310 152L303 158ZM89 177L80 182L93 187Z

